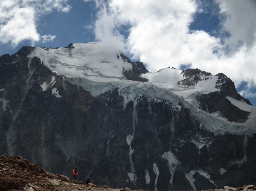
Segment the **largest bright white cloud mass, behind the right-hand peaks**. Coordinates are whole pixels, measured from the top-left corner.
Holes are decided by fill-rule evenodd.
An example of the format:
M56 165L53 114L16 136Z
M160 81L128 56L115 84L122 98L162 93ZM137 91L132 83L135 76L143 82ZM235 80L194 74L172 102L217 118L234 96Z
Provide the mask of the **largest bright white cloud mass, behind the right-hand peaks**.
M102 3L95 2L96 5ZM142 61L152 72L189 65L213 75L222 72L236 86L247 82L255 87L255 0L216 0L220 9L215 12L222 19L219 26L223 33L219 36L211 36L203 30L189 30L195 14L204 11L202 2L108 0L105 6L98 6L96 39L123 43L133 59ZM125 28L126 37L122 36L122 26L128 27ZM230 36L223 35L225 32Z

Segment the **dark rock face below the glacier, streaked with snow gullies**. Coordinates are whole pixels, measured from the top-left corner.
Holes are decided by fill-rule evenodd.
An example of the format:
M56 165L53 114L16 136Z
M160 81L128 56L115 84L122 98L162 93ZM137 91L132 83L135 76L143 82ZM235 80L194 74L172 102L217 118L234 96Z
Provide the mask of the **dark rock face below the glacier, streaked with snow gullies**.
M256 182L255 134L214 136L178 97L175 105L141 95L125 107L117 88L93 97L39 58L27 58L32 50L0 57L0 153L67 177L76 166L78 180L112 188L201 190ZM145 67L131 64L127 78L140 81ZM184 75L198 78L179 83L203 80L198 69ZM229 78L219 80L226 81L220 92L197 97L201 110L246 120L248 113L225 97L246 100Z

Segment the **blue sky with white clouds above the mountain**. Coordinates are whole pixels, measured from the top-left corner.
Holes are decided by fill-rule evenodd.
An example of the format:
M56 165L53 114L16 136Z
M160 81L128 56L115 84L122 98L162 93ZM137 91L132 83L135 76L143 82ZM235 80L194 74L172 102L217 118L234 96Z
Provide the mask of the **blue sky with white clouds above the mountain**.
M101 41L141 61L224 73L256 106L256 0L0 0L0 55Z

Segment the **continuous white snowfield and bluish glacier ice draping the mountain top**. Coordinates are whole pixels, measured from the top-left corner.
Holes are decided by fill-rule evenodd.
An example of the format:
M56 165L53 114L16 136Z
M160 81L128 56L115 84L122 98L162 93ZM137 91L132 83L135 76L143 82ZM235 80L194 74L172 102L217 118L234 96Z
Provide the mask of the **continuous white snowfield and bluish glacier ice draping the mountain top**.
M108 49L102 43L75 43L74 48L35 48L29 55L30 58L37 56L44 62L44 65L61 75L71 84L82 87L93 96L98 96L106 91L111 91L116 87L124 97L124 108L128 101L136 102L142 95L155 100L168 100L178 107L182 102L187 108L196 113L198 119L207 129L218 134L247 134L252 135L256 130L256 107L231 97L227 99L239 109L251 112L249 119L245 123L228 122L227 119L218 116L218 113L206 113L199 108L196 96L220 91L215 87L218 79L212 75L207 80L202 80L195 86L183 86L177 84L185 79L182 70L165 68L158 72L148 72L141 75L147 78L148 82L130 81L123 74L124 71L132 70L132 64L123 61L119 51ZM204 74L202 74L204 75ZM41 84L43 90L52 86ZM52 93L61 98L58 90ZM156 167L157 169L157 167ZM189 174L187 175L189 176Z

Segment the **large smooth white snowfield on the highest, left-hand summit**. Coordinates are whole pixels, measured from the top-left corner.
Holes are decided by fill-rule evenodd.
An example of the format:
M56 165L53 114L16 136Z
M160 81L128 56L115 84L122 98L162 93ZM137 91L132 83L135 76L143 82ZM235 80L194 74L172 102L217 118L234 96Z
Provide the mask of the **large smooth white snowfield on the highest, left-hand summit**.
M122 61L121 52L108 50L102 43L76 43L74 48L35 48L28 56L37 56L52 71L69 78L90 78L94 81L124 79L124 71L132 69ZM118 57L119 56L119 57Z

